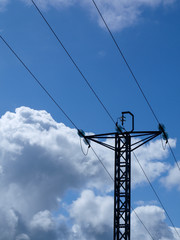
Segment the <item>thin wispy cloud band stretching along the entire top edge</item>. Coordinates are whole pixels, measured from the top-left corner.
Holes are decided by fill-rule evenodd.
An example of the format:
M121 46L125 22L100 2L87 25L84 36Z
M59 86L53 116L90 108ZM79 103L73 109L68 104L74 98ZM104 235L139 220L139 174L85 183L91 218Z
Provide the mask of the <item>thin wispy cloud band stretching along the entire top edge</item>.
M0 10L3 10L10 0L1 0ZM20 0L27 5L32 5L31 0ZM107 24L112 31L121 31L134 26L142 21L146 8L155 9L158 7L170 6L176 0L96 0ZM82 6L91 13L99 26L104 28L104 24L95 10L91 0L36 0L36 4L43 10L49 8L67 8L74 5Z

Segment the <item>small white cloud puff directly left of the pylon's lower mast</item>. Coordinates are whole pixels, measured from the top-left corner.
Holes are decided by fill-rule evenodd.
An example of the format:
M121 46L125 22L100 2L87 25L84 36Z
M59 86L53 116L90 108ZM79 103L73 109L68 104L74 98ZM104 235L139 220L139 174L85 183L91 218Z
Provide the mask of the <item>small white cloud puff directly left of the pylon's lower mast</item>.
M76 222L73 226L74 231L78 228L80 230L78 234L83 232L85 239L110 239L113 223L113 197L95 196L92 191L85 190L80 198L73 202L70 216Z

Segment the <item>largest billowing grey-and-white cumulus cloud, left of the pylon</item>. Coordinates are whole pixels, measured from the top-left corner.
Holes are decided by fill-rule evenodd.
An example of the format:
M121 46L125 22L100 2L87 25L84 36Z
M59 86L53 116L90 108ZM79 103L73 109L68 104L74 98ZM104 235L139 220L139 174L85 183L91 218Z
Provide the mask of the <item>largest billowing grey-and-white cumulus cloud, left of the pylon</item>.
M31 239L36 232L46 232L52 239L55 220L50 211L59 208L59 199L67 190L105 190L113 185L93 154L82 154L76 130L55 122L46 111L18 108L2 116L0 127L0 209L6 209L4 215L12 218L12 223L8 220L10 233L4 233L12 235L8 240L14 235L29 237L24 230L31 232ZM58 226L61 228L66 226Z

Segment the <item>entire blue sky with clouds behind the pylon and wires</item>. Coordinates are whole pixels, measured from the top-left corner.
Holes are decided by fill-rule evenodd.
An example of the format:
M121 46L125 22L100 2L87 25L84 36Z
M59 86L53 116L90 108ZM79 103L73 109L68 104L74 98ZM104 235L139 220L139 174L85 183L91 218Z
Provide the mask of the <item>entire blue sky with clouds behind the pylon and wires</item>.
M157 130L156 120L99 19L92 2L41 0L36 3L113 118L116 120L122 111L131 111L135 115L136 130ZM166 126L171 138L170 143L179 161L179 2L134 0L119 3L115 0L111 2L98 0L97 4L159 121ZM0 1L0 34L78 128L93 133L114 131L111 119L30 1ZM109 220L111 213L109 215L104 213L104 209L112 207L112 184L108 176L91 152L87 158L84 158L71 123L39 88L2 41L0 52L0 115L2 116L1 139L3 139L0 165L2 169L6 169L3 170L4 185L1 186L5 197L0 206L4 206L3 204L7 202L6 197L11 199L5 207L7 211L3 210L3 214L6 218L11 216L12 219L18 219L13 220L14 225L11 225L14 226L12 235L9 236L4 232L3 240L37 239L38 231L39 235L47 240L52 239L52 236L53 239L92 240L111 236L112 226ZM109 171L112 171L113 155L99 146L94 147L107 164ZM71 149L73 156L68 149ZM137 155L174 225L180 228L178 208L180 172L174 166L172 155L167 148L165 151L162 149L159 139L138 150ZM32 159L31 166L28 161ZM58 165L56 165L57 159L60 161ZM62 159L67 163L63 163ZM71 160L75 161L73 163L75 165ZM159 216L156 225L163 226L164 232L162 231L162 235L156 238L172 239L169 228L171 223L164 217L156 197L143 179L138 166L133 164L133 207L137 208L137 212L142 216L143 221L149 224L154 234L157 230L155 226L150 225L148 219L154 217L157 220ZM59 174L56 168L59 169ZM75 169L74 173L73 169ZM26 173L28 171L29 174ZM50 176L53 176L52 179ZM73 180L73 177L77 181ZM37 184L36 181L40 183ZM59 188L52 187L54 184ZM31 198L25 197L27 192L23 190L24 186L27 192L31 193ZM24 207L15 203L17 193L21 196L21 205ZM52 197L48 198L47 195L49 196L50 193ZM102 218L97 218L97 224L94 225L91 221L93 216L90 214L89 222L85 224L87 218L81 218L79 213L84 212L87 206L89 209L99 209L101 201L104 203L103 213L99 213ZM27 202L32 203L31 214L27 209ZM41 205L40 202L43 204ZM86 217L86 213L84 216ZM106 221L107 216L108 221ZM20 227L20 219L24 228ZM42 221L47 224L42 225ZM136 220L133 221L133 226L143 233L144 230ZM3 222L1 228L4 228ZM141 237L136 235L137 232L133 233L136 236L134 239L150 239L145 233ZM178 239L176 235L174 239Z

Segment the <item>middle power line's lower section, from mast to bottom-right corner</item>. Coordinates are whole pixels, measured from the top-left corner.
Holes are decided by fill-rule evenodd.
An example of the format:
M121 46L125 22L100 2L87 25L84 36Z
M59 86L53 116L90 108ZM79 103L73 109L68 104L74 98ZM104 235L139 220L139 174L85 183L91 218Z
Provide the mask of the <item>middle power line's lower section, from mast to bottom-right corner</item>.
M165 209L165 207L164 207L164 205L163 205L163 203L162 203L162 201L161 201L161 199L160 199L160 197L159 197L158 193L156 192L155 188L153 187L153 185L152 185L152 183L151 183L150 179L148 178L148 176L147 176L146 172L144 171L144 169L143 169L143 167L142 167L142 165L141 165L140 161L138 160L138 158L137 158L137 156L136 156L136 154L135 154L134 152L133 152L133 155L134 155L134 157L135 157L135 159L136 159L137 163L139 164L139 166L140 166L140 168L141 168L142 172L144 173L144 176L146 177L146 179L147 179L147 181L148 181L149 185L151 186L151 188L152 188L152 190L153 190L154 194L156 195L156 197L157 197L157 199L158 199L158 201L159 201L159 203L160 203L161 207L164 209L164 211L165 211L165 213L166 213L166 215L167 215L167 217L168 217L169 221L171 222L171 224L172 224L172 226L173 226L174 230L176 231L176 233L177 233L178 237L180 238L180 235L179 235L179 233L178 233L178 231L177 231L177 229L176 229L176 227L175 227L175 225L174 225L174 223L173 223L172 219L170 218L170 216L169 216L169 214L168 214L167 210Z

